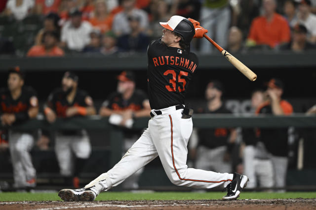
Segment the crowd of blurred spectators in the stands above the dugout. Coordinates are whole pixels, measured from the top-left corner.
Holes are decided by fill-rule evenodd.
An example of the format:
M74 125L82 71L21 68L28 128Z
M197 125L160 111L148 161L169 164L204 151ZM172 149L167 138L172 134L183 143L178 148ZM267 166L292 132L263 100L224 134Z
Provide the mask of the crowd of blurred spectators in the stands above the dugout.
M232 53L316 49L316 0L2 0L0 19L40 18L27 56L146 52L172 15L199 20ZM0 20L0 54L14 54L16 39ZM2 28L2 30L1 30ZM13 31L14 27L10 28ZM13 36L13 35L12 35ZM25 37L24 37L25 38ZM12 47L10 46L10 42ZM2 49L1 49L2 48ZM192 50L211 53L205 39ZM23 53L22 53L23 54Z

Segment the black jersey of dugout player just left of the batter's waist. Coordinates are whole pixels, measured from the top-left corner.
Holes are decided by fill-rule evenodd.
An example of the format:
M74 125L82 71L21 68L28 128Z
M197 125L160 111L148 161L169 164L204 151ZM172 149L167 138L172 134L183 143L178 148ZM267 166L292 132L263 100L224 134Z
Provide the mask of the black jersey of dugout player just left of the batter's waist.
M145 92L142 90L135 90L132 96L128 100L124 100L122 94L114 92L110 94L107 100L102 104L103 107L107 107L112 110L133 110L138 111L144 108L143 102L147 100Z

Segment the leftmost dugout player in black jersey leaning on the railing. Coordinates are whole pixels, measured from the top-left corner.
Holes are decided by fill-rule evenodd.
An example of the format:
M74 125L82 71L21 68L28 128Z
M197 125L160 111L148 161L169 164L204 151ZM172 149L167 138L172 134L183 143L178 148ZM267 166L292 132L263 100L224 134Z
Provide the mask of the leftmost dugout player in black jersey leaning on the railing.
M39 102L35 90L24 86L24 73L20 67L9 69L7 88L0 90L1 124L8 132L8 144L13 166L13 187L16 189L36 186L36 170L30 150L34 145L33 131L14 129L12 125L36 118Z

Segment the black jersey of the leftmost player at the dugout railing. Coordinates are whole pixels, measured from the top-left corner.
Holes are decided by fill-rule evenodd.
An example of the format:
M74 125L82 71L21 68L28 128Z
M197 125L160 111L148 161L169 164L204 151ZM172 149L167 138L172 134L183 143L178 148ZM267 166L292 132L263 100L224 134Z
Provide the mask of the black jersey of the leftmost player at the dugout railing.
M0 115L4 113L21 114L28 116L28 110L32 107L38 107L39 101L36 91L31 87L22 87L21 95L13 99L11 92L7 88L0 90ZM16 122L21 120L16 119ZM27 120L28 118L23 118ZM23 120L23 121L24 121Z

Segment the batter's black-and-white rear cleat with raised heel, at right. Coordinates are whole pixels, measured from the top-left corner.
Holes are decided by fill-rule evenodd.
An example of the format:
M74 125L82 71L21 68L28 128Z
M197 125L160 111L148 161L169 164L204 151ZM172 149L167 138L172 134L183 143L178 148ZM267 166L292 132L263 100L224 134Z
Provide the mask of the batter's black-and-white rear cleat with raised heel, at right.
M247 186L249 181L245 175L234 173L233 180L227 185L227 195L223 197L223 200L236 200L243 188Z

